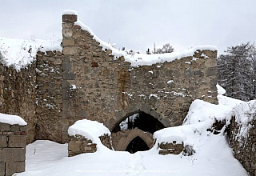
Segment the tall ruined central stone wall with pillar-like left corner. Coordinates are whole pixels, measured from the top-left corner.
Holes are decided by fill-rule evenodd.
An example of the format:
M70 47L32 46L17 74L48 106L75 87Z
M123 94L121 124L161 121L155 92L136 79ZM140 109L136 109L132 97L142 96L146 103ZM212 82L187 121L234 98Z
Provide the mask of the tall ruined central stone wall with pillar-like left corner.
M218 103L217 51L198 50L193 60L132 67L123 57L114 59L111 50L102 50L94 36L75 25L76 15L65 14L62 20L62 118L67 126L89 118L112 130L142 106L149 113L154 110L165 126L178 126L194 99Z

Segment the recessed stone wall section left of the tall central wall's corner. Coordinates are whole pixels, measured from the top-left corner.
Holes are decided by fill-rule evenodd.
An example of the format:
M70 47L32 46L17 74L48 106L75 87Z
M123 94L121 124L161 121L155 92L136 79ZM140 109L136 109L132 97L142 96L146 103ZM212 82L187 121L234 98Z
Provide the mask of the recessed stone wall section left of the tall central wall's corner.
M35 139L62 142L62 52L38 52L36 67Z

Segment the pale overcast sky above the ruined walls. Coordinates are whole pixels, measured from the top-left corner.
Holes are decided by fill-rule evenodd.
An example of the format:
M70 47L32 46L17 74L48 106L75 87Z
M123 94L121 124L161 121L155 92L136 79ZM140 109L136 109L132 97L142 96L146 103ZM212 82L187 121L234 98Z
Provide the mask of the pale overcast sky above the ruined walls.
M0 37L62 38L63 10L105 42L146 52L170 42L175 50L256 41L255 0L0 0ZM53 37L54 36L54 37Z

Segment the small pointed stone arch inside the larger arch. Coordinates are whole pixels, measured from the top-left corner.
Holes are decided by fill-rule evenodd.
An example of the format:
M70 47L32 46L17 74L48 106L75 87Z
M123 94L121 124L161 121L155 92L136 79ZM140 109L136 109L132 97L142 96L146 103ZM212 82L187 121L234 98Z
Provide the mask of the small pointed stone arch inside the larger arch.
M138 128L134 128L133 130L128 129L125 131L125 133L128 133L127 137L122 137L119 140L115 150L125 151L129 143L136 137L142 138L142 140L150 149L154 146L154 138L153 135L150 133L145 133L144 131L139 130Z

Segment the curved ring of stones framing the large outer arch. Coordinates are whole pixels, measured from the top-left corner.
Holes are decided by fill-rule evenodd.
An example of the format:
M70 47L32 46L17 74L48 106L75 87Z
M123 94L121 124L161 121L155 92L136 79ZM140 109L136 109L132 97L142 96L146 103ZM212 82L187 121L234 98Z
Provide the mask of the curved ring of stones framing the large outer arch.
M124 119L128 118L132 114L136 114L139 112L144 112L146 114L150 114L153 118L158 119L159 122L162 123L165 127L170 127L170 120L168 118L162 117L161 114L159 114L156 110L151 108L150 105L142 104L142 105L134 105L126 108L125 110L121 110L118 113L115 114L116 119L110 119L109 122L106 123L106 127L112 131L115 126L118 126L120 122L122 122Z

